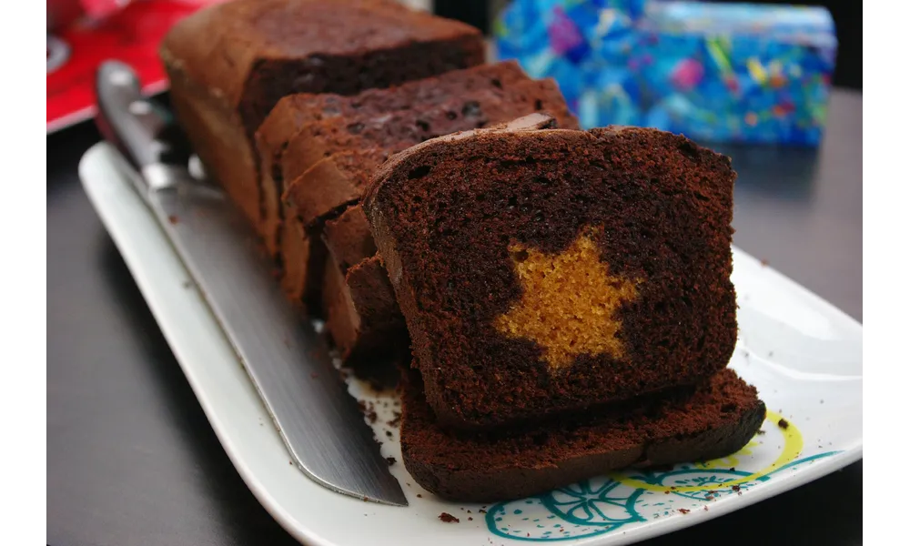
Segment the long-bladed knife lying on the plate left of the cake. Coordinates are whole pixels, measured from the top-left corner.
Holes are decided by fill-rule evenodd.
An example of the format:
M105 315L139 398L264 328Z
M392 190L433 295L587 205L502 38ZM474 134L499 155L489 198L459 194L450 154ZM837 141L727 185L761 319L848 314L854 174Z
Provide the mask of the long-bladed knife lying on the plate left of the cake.
M224 191L188 168L167 109L142 96L133 70L107 61L96 74L96 124L126 161L235 349L291 459L309 478L365 501L407 506L319 333L284 296L274 264Z

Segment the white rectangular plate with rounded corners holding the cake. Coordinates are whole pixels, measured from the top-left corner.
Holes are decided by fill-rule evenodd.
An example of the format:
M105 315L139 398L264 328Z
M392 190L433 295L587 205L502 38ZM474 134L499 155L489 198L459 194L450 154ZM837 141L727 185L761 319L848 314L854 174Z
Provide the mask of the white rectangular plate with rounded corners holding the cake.
M626 544L716 518L865 456L865 329L755 258L733 249L740 339L730 365L768 406L762 433L724 460L619 472L491 506L440 501L401 464L398 400L355 380L410 506L382 506L323 489L290 464L243 368L154 217L116 170L105 143L79 175L123 255L227 455L258 500L313 545L489 545L563 541ZM789 426L778 426L785 419ZM673 489L671 489L673 488ZM669 494L667 493L669 491ZM459 523L440 521L448 512Z

